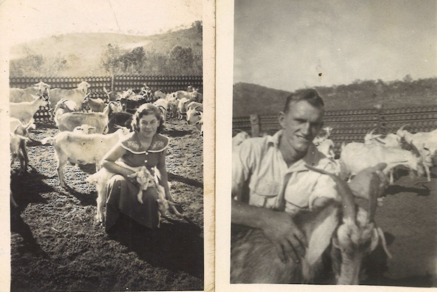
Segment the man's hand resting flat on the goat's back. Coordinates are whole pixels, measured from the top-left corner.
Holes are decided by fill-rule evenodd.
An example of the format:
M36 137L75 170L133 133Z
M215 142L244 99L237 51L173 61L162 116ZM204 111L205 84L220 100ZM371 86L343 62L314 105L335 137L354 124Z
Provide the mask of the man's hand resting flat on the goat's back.
M289 214L271 211L271 214L264 220L262 230L274 244L283 263L288 257L298 263L299 258L305 255L305 248L308 247L307 240Z

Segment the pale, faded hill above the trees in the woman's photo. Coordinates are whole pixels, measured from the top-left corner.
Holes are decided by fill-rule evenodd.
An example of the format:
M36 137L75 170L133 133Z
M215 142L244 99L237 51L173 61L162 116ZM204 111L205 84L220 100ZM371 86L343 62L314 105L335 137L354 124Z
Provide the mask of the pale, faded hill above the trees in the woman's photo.
M152 36L112 33L65 34L16 45L11 48L10 56L11 61L29 55L41 55L45 60L61 58L69 65L68 70L56 72L56 76L102 75L99 66L100 56L108 44L117 45L125 52L142 47L146 52L161 54L167 54L175 46L190 47L193 55L196 55L202 52L202 31L193 26Z

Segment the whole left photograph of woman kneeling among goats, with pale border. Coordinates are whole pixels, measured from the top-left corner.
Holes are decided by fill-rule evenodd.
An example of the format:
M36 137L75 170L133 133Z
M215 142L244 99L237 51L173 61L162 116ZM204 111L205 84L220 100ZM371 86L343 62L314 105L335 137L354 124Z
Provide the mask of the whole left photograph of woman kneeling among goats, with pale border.
M211 3L14 0L0 18L0 290L210 290Z

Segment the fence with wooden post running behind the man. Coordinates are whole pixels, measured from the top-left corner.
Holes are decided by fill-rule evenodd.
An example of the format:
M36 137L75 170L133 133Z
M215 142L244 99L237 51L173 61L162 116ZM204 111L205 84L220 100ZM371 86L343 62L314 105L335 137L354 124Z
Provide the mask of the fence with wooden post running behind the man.
M335 152L339 153L343 142L362 142L366 133L376 128L375 133L395 133L403 124L409 124L412 133L429 132L437 129L437 106L326 111L324 126L333 127L331 139ZM235 117L233 131L246 131L252 137L272 135L280 128L277 115L250 115Z

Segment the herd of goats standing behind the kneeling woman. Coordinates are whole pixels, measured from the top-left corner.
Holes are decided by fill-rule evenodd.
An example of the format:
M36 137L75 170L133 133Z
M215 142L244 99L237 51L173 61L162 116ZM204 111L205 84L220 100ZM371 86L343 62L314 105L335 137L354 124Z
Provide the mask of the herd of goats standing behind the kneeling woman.
M108 92L108 102L100 98L91 98L88 93L90 84L83 81L74 89L50 88L39 82L21 89L10 88L10 151L11 167L18 157L20 170L18 175L27 172L28 155L26 141L29 131L35 128L33 116L47 103L60 133L55 137L46 137L41 144L52 141L56 151L59 184L66 187L64 165L69 162L77 165L95 164L96 171L104 154L131 128L133 113L144 103L153 103L165 118L187 119L203 135L203 98L198 89L188 86L187 91L179 90L164 94L161 90L152 93L144 84L139 94L132 89L124 92ZM193 128L194 129L194 128ZM17 206L11 192L11 204ZM176 212L177 213L177 212Z

